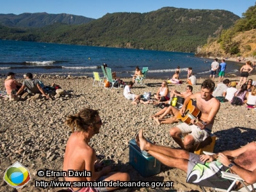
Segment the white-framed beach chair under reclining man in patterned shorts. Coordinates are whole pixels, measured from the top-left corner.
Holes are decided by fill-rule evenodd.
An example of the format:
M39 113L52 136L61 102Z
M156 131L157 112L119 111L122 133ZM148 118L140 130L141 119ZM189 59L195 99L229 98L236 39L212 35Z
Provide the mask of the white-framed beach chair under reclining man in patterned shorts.
M206 155L213 155L214 153L211 153L211 152L205 152L204 151L204 154ZM220 188L211 188L212 190L214 191L226 191L226 192L235 192L235 191L231 191L232 187L234 186L234 184L236 184L236 182L241 182L241 184L243 184L243 188L241 189L237 189L238 192L252 192L252 191L256 191L256 183L250 185L250 186L246 186L244 184L244 180L239 177L238 175L234 174L234 173L227 173L227 172L221 172L221 177L223 179L229 179L229 180L233 180L232 184L230 184L229 188L228 189L220 189ZM205 191L205 188L203 186L200 186L200 188L204 191ZM237 192L236 191L236 192Z

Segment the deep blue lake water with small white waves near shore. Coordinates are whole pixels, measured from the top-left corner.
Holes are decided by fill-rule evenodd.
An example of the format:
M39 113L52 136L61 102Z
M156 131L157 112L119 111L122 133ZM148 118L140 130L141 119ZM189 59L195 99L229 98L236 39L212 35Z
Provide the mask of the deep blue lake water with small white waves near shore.
M170 78L180 66L180 77L186 77L188 67L196 77L209 76L213 60L196 58L194 53L148 51L84 45L48 44L0 40L0 74L9 71L22 76L33 74L92 76L100 72L103 63L118 77L131 77L136 66L148 67L148 77ZM226 73L239 74L240 63L227 61Z

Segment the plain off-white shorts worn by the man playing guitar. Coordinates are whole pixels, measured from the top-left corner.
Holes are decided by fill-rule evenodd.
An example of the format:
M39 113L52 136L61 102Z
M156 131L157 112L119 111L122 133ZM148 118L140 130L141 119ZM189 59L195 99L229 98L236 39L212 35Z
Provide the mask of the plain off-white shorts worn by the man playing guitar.
M195 140L195 144L204 141L207 137L210 136L209 132L205 131L204 129L201 130L196 125L188 125L186 123L182 123L182 124L177 125L177 127L179 127L182 134L189 133L191 136L193 136L193 138ZM209 129L211 131L212 125L207 125L207 129Z

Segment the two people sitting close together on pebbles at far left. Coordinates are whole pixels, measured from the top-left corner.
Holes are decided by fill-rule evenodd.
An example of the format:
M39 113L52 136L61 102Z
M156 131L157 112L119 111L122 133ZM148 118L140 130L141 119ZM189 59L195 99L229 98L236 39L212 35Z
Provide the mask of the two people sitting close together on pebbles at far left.
M24 75L24 81L19 83L15 80L15 73L8 72L6 79L4 80L4 86L8 97L16 97L22 95L24 92L29 94L41 93L43 97L49 99L47 90L56 90L60 88L57 84L51 86L45 86L39 79L33 78L33 74L27 73Z

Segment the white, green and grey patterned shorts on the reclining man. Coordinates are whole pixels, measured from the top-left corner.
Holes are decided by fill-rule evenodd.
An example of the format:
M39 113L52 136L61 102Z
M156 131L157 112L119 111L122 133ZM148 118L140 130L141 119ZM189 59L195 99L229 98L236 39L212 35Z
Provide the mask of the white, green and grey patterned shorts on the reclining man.
M232 184L232 180L223 179L221 172L229 172L229 168L219 163L212 161L211 163L204 163L200 161L200 156L189 153L188 171L186 182L198 186L205 186L209 188L228 189ZM236 189L236 184L232 189Z

